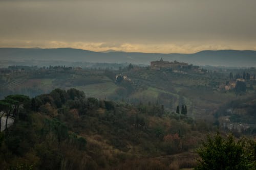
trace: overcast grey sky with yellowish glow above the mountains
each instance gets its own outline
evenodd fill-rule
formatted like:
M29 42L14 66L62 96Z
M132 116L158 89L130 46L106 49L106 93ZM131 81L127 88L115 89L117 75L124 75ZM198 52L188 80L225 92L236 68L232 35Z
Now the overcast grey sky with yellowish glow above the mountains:
M0 47L256 50L255 0L0 0Z

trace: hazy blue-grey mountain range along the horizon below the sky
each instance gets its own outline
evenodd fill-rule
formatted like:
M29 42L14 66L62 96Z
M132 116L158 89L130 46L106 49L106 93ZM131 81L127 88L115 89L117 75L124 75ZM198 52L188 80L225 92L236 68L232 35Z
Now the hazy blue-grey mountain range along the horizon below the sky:
M256 51L201 51L194 54L159 54L127 52L93 52L74 48L0 48L0 59L11 61L63 61L150 64L164 61L182 61L194 65L256 67Z

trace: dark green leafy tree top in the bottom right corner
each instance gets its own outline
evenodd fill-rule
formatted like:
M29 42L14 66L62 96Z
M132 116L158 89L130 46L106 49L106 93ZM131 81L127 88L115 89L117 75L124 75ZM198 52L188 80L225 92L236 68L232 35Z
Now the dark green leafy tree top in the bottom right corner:
M256 143L247 139L235 141L232 135L224 139L219 132L197 150L200 158L196 170L255 169Z

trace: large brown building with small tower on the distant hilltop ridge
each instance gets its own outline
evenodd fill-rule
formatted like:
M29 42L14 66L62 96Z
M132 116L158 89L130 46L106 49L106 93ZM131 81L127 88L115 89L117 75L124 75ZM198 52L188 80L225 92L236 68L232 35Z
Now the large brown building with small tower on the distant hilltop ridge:
M184 62L169 62L169 61L163 61L161 58L160 61L151 61L150 66L152 69L160 69L160 68L182 68L188 66L187 63Z

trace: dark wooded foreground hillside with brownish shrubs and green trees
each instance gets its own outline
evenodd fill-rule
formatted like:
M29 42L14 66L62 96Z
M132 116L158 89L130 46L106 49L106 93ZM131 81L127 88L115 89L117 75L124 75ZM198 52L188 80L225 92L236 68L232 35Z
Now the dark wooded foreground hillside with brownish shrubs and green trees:
M115 103L86 98L76 89L55 89L24 103L15 124L1 133L0 166L189 168L196 165L191 151L211 130L186 115L166 113L157 104Z

